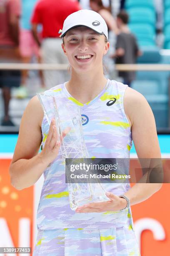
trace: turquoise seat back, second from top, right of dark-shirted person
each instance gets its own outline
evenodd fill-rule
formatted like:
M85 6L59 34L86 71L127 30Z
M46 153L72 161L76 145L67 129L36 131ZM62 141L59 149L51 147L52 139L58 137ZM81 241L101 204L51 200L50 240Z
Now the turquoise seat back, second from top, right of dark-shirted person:
M155 27L156 13L150 8L130 8L127 10L130 23L147 23Z

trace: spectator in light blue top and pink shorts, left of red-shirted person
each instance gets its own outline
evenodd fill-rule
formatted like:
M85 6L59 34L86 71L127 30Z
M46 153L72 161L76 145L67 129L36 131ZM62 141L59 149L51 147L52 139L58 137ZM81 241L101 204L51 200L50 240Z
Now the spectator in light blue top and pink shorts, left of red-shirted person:
M36 56L37 61L41 63L40 48L33 38L31 31L30 18L32 10L37 0L22 0L21 19L20 19L20 54L23 63L30 63L32 56ZM39 34L40 38L40 34ZM24 98L27 96L26 82L28 78L28 71L22 71L21 85L16 92L16 97ZM41 86L45 88L42 71L40 71Z

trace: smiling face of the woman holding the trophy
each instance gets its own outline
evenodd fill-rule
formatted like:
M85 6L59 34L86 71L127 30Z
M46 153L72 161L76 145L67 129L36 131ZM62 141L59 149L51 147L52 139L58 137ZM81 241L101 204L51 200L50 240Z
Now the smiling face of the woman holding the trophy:
M105 36L85 26L71 29L64 36L62 49L73 69L88 72L101 68L102 58L109 48Z

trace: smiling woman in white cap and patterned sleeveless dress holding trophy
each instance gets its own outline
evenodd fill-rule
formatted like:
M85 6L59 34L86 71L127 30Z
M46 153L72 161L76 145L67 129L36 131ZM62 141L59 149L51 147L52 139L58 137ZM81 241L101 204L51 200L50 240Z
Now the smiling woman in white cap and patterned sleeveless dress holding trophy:
M63 106L71 102L80 107L87 118L83 132L90 158L128 158L132 138L138 157L160 158L148 102L127 85L104 77L102 58L109 42L103 18L92 10L72 13L65 19L61 37L71 79L45 94L55 96L56 102L57 98L63 100ZM93 202L72 211L60 156L55 121L49 128L35 96L23 114L10 165L16 189L30 187L44 173L33 255L140 255L129 203L146 200L161 184L135 184L132 188L128 183L103 184L109 192L107 202Z

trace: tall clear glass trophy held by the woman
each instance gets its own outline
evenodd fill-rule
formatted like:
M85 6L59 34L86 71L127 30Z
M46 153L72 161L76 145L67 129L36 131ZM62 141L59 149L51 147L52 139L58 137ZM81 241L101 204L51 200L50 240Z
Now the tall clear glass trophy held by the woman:
M57 140L60 141L62 160L69 159L72 163L89 161L87 147L85 145L80 108L72 102L65 102L57 97L45 94L37 94L47 121L50 125L52 118L56 121ZM62 132L70 127L70 132L62 138ZM66 172L66 175L68 172ZM70 208L90 203L109 200L99 180L96 183L73 183L70 175L67 175L67 185L70 198Z

